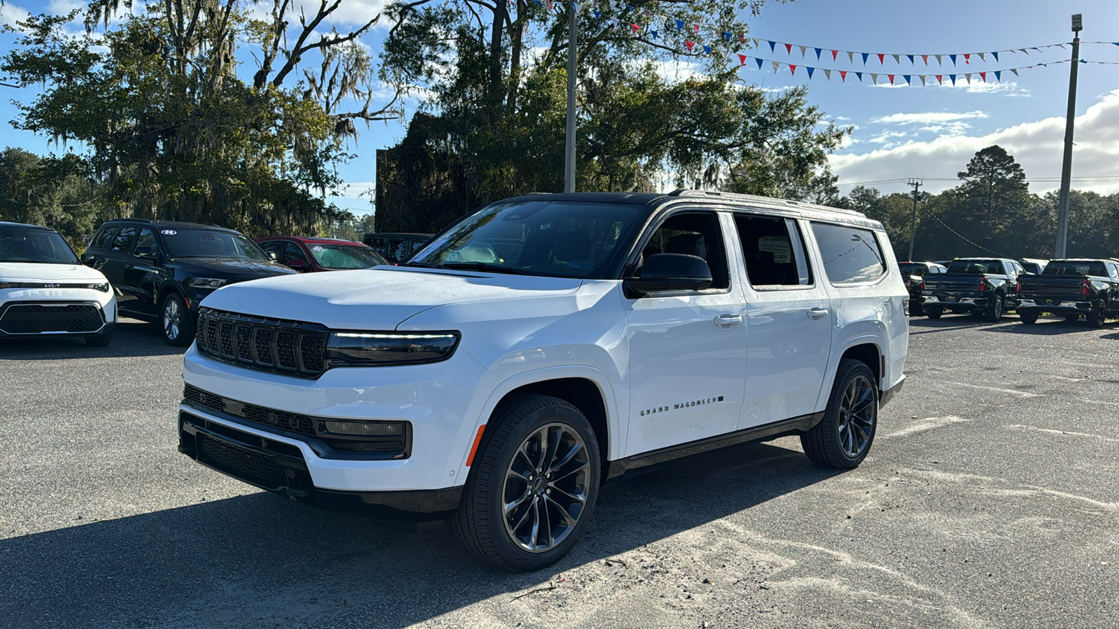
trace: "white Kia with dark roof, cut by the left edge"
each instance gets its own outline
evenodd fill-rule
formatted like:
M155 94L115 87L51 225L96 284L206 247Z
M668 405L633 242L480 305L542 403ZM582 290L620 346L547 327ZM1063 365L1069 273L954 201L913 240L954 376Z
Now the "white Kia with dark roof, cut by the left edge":
M105 347L115 327L109 280L83 266L58 232L0 222L0 339L79 336Z

